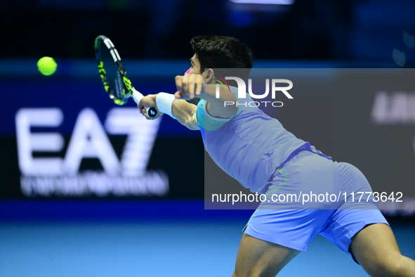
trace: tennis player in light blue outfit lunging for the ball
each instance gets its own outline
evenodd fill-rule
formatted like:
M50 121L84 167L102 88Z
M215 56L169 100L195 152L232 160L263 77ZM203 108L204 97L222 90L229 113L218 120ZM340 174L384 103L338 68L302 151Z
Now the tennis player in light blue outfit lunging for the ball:
M278 120L243 105L252 101L249 94L239 99L236 88L220 86L216 98L214 75L221 72L213 69L245 69L236 77L248 77L253 59L245 44L219 36L194 37L190 44L195 55L190 70L176 76L176 94L148 95L138 104L147 119L145 108L155 107L159 116L166 113L185 127L200 130L216 164L253 192L371 191L359 169L332 161ZM197 105L186 101L195 98L201 98ZM242 105L225 106L225 101ZM373 198L330 205L270 210L261 204L244 229L232 276L276 276L317 233L351 255L370 276L415 276L415 261L400 253Z

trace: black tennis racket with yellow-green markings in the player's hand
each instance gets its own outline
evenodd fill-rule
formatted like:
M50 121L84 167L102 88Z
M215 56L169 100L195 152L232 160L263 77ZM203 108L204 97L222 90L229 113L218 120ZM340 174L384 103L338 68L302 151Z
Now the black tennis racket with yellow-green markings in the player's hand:
M114 44L107 37L100 35L95 39L95 58L105 91L117 105L124 105L130 97L138 104L143 94L136 91L121 63L121 58ZM147 108L149 117L157 116L157 109Z

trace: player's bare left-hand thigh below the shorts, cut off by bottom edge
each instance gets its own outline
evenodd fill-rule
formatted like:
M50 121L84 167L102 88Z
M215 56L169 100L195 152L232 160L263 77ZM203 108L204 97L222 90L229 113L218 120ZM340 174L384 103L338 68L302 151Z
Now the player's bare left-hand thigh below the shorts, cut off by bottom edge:
M232 277L276 276L299 252L244 233Z

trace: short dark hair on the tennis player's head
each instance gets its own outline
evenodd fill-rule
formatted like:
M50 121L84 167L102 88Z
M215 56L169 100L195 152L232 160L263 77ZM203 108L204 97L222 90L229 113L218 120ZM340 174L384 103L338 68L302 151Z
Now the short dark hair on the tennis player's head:
M251 50L238 39L216 35L197 36L190 40L193 51L200 63L201 73L205 68L239 68L232 70L235 77L246 79L253 65ZM215 75L225 72L214 70Z

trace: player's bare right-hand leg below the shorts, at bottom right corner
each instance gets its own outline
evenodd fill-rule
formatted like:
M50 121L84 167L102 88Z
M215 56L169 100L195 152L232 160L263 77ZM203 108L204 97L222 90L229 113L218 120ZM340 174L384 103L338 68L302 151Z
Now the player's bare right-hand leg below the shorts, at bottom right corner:
M386 224L363 228L353 236L350 251L370 276L415 276L415 261L402 256Z

